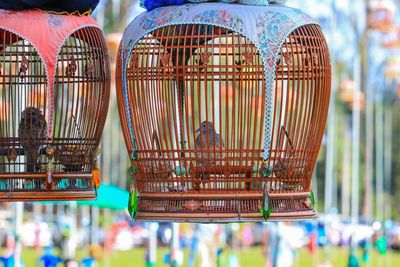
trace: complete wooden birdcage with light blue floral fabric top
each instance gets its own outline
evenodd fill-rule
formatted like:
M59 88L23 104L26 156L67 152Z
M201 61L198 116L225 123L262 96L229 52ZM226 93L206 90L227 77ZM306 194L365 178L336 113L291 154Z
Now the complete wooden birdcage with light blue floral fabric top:
M117 64L137 220L314 218L331 69L297 9L188 4L139 15Z

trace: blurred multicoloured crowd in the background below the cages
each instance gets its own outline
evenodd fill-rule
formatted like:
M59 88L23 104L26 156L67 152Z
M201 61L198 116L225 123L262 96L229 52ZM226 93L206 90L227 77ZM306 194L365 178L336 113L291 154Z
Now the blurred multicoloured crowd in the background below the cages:
M115 217L109 227L93 227L90 224L70 224L70 218L61 216L56 222L27 220L16 236L9 227L9 221L0 220L1 262L3 266L14 265L16 241L24 248L34 248L37 252L36 266L93 266L105 255L113 251L127 251L144 247L148 252L143 257L149 261L149 238L156 233L158 247L166 247L162 259L169 263L174 258L176 266L239 266L237 251L259 246L260 257L266 267L293 266L298 249L307 249L314 257L318 248L348 248L349 265L360 266L370 260L372 250L379 254L400 250L400 224L392 221L352 224L340 216L321 216L316 221L268 222L247 224L179 224L179 232L174 233L171 223L149 224L133 222L125 214ZM8 229L8 230L7 230ZM178 235L179 249L170 250L173 235ZM92 236L96 236L93 240ZM354 250L362 251L357 257ZM71 250L84 251L76 258ZM187 256L183 257L183 251ZM174 255L172 255L174 253ZM81 253L82 254L82 253ZM222 255L225 261L222 262ZM174 266L171 264L171 266ZM324 265L332 266L327 261Z

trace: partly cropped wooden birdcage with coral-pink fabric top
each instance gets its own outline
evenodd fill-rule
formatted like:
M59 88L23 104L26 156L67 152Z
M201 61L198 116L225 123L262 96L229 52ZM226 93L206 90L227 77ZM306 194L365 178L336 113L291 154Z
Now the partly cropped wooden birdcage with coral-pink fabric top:
M0 200L93 199L110 71L89 16L0 10Z

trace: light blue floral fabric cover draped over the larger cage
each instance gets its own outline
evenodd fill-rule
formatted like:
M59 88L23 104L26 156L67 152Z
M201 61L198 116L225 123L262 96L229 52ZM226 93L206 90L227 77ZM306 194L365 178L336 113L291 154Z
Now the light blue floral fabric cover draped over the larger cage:
M264 158L267 159L271 142L275 65L280 48L296 28L316 23L299 9L277 5L254 7L225 3L186 4L161 7L142 13L127 27L121 43L124 109L132 140L135 140L135 136L129 113L130 104L126 83L126 71L132 51L140 39L150 32L179 24L200 24L226 28L246 37L257 47L265 67Z

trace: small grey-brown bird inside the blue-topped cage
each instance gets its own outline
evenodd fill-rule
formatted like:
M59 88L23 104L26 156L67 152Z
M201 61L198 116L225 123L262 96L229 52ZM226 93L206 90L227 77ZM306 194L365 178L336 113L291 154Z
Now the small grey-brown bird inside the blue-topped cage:
M215 131L214 124L203 121L200 128L196 130L196 160L201 168L221 165L223 154L220 150L225 149L224 140Z

